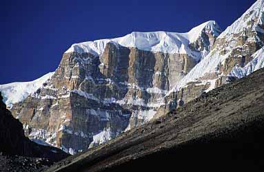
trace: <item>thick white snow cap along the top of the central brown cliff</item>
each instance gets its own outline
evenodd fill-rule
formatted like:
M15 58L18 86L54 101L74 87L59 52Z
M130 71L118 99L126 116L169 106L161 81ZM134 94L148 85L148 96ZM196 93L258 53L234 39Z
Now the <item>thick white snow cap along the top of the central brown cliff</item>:
M107 43L114 43L122 45L123 47L137 47L139 50L150 52L164 52L164 53L180 53L192 54L193 57L199 61L201 55L194 54L188 47L199 39L202 32L210 32L214 36L219 36L221 29L215 21L207 21L187 33L176 32L132 32L123 37L116 39L101 39L97 41L88 41L84 43L73 44L65 53L69 52L89 52L95 56L103 54L105 45Z

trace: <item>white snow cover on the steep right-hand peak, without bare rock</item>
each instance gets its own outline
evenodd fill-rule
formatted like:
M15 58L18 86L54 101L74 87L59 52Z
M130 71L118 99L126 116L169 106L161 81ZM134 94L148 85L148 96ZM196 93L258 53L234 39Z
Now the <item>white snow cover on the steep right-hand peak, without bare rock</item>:
M235 44L237 40L234 39L234 36L232 36L232 34L243 33L245 28L250 29L252 31L264 33L264 30L259 27L260 25L263 25L263 13L264 0L258 0L238 20L236 20L222 34L218 36L217 39L225 39L227 41L227 43L225 43L226 45L223 45L223 43L217 45L214 50L212 50L210 54L205 56L205 58L203 58L200 63L198 63L194 68L192 68L192 70L183 79L181 79L178 83L175 83L175 87L171 89L170 92L167 93L167 95L169 95L171 92L176 92L177 90L185 87L187 83L190 83L192 81L195 81L196 79L205 76L205 74L217 72L219 64L222 64L225 59L232 54L232 50L237 47L237 45ZM235 43L233 43L232 40L234 40ZM223 49L225 49L226 51L225 54L221 54L221 50ZM252 61L252 63L249 64L249 67L252 67L252 65L256 64L258 64L256 68L261 67L263 65L262 58L263 56L256 58L254 61ZM248 71L254 71L252 69L247 68L237 68L233 71L233 75L236 75L238 72L242 72L241 70L247 71L247 73Z

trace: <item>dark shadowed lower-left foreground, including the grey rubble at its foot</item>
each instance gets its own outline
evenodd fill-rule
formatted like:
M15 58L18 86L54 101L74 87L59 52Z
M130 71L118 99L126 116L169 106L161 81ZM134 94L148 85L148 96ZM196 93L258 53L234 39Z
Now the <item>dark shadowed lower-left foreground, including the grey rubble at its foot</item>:
M0 171L39 171L68 156L55 147L32 142L21 122L6 109L0 92Z

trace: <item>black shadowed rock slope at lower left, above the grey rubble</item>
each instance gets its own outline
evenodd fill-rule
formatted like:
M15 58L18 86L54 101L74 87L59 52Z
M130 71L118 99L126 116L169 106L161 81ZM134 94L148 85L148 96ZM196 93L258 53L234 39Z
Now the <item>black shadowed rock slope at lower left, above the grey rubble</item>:
M68 156L60 149L45 147L30 141L23 131L23 125L14 119L2 102L0 92L0 152L1 155L23 155L28 157L48 158L58 161Z

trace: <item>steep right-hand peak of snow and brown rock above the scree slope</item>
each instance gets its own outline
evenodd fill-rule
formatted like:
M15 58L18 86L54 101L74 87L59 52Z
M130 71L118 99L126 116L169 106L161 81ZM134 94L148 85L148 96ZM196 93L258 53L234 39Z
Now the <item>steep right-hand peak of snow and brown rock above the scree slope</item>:
M218 36L205 56L165 96L154 118L232 80L264 67L264 1L258 0Z

